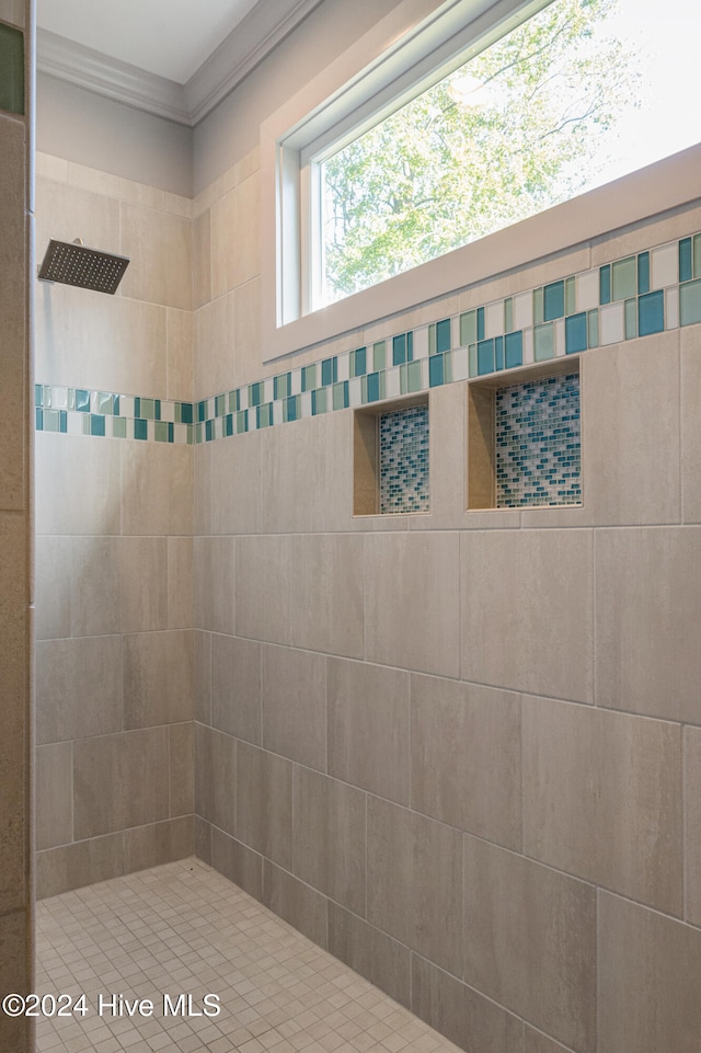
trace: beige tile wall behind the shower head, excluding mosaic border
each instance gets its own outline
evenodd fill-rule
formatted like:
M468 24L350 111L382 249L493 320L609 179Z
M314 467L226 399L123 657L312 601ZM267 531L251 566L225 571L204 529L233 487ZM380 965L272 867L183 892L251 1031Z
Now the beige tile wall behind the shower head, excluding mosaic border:
M80 236L131 257L114 297L37 285L37 380L192 399L191 203L37 171L37 253ZM42 432L35 493L43 896L193 851L193 450Z

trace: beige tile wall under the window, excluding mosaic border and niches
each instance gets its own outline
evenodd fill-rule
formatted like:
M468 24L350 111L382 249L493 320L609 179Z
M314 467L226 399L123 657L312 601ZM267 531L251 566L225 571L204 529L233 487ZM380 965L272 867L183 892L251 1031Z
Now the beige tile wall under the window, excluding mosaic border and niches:
M256 281L239 175L195 204L200 311ZM238 304L220 390L274 371ZM429 515L354 518L352 411L195 451L198 850L466 1050L698 1045L698 329L583 356L583 507L466 513L464 384L429 396Z

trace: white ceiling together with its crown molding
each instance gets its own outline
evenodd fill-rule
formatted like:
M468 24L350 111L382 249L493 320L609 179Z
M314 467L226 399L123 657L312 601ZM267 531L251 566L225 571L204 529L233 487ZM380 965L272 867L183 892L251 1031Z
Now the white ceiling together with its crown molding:
M194 125L322 0L37 0L37 69Z

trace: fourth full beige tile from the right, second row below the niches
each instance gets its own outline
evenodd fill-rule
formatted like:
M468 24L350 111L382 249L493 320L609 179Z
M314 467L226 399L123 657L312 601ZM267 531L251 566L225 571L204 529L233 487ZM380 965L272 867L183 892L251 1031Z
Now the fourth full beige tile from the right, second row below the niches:
M326 770L326 660L289 648L262 649L263 746Z

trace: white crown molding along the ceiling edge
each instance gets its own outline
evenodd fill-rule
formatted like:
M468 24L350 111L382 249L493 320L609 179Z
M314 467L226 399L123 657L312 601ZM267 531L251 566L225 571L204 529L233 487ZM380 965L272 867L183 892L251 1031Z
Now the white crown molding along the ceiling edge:
M36 67L114 102L193 127L322 2L256 3L184 85L41 27Z

